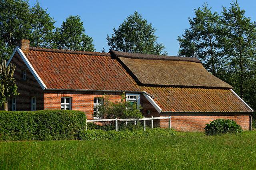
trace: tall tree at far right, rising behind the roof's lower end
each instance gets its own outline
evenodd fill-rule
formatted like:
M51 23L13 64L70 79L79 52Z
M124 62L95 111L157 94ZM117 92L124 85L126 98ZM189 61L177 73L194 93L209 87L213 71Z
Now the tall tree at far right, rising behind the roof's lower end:
M222 21L227 30L224 49L228 54L228 70L232 73L230 84L244 98L247 81L251 81L252 69L255 67L256 24L244 16L237 1L233 1L227 10L223 7Z

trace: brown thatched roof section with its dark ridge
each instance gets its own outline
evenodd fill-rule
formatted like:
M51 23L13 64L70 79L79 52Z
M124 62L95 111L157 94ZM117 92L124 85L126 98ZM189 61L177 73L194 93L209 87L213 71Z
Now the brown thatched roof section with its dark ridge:
M140 85L232 89L197 58L110 51Z

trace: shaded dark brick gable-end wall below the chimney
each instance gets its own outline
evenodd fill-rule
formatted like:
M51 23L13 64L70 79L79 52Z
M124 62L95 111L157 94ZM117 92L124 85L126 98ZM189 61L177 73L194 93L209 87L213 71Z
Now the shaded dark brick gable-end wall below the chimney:
M14 54L11 63L16 66L14 78L18 86L18 93L20 93L20 95L16 96L16 111L30 111L31 97L33 96L36 97L36 110L44 109L43 90L18 52ZM26 70L26 80L22 79L23 70ZM12 110L11 98L8 98L8 110L10 111Z

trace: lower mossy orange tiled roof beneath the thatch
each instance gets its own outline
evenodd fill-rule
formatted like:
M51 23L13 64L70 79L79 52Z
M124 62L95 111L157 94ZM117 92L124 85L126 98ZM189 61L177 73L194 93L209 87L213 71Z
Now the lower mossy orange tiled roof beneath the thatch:
M177 87L140 87L154 96L164 111L176 112L250 112L230 89Z

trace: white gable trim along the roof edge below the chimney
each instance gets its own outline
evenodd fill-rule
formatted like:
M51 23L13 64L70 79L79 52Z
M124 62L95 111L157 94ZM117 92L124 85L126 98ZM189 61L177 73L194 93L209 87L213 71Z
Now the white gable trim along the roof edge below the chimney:
M24 61L24 63L26 64L26 66L28 67L28 69L31 71L31 73L34 75L36 81L39 83L39 85L42 87L42 89L46 89L46 85L44 84L44 82L42 81L42 79L39 77L39 75L36 73L36 70L34 69L34 67L31 65L31 63L28 61L27 57L25 56L25 54L22 52L22 50L20 49L20 47L16 47L12 53L12 56L10 57L9 61L7 62L7 65L10 64L12 57L14 56L14 54L16 53L16 51L20 54L20 57L22 58L22 60Z

